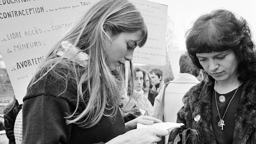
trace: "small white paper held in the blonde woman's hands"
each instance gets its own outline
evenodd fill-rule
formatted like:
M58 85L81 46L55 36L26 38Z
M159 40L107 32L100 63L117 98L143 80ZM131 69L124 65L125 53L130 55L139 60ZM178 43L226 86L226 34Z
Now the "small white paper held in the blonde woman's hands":
M173 122L154 123L151 125L137 123L137 129L140 129L140 128L170 129L170 128L180 127L183 125L184 125L183 123L173 123Z

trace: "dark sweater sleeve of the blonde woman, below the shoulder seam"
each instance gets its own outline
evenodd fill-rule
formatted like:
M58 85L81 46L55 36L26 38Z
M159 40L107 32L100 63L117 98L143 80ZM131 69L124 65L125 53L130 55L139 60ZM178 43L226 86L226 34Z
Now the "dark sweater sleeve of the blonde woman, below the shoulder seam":
M69 142L71 125L66 124L70 107L66 100L39 95L26 98L22 107L22 143L66 144Z

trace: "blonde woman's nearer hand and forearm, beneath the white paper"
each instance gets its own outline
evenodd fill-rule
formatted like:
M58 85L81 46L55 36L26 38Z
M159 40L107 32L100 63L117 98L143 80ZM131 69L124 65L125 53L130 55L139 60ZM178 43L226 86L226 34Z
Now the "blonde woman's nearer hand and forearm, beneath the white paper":
M110 140L106 144L156 144L161 136L168 135L166 129L141 128L130 130Z

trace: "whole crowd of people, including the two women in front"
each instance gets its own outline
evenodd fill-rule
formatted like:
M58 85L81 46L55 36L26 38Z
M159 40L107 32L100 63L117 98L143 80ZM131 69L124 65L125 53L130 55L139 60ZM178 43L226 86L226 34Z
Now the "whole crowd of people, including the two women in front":
M244 18L225 9L199 16L169 82L159 68L133 68L133 51L147 37L131 2L97 1L38 66L22 109L17 101L6 106L10 144L256 143L256 52ZM184 125L137 129L161 122Z

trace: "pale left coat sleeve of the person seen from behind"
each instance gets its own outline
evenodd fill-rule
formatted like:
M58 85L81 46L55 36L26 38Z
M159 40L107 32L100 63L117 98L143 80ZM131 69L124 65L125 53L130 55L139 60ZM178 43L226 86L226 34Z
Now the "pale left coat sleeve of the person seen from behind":
M161 111L161 102L162 102L162 93L163 93L164 89L160 90L160 93L158 94L158 96L155 97L155 102L154 102L154 106L153 106L153 111L151 114L151 117L160 119L161 121L163 121L162 116L164 111Z

